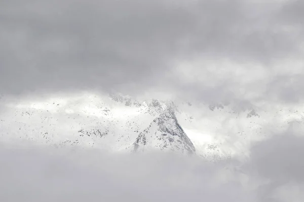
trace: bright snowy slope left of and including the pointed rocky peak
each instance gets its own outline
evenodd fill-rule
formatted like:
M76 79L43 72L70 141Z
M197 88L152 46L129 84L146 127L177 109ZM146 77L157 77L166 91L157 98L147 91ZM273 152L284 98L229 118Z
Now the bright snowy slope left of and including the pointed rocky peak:
M56 147L195 153L168 106L156 99L139 103L121 95L94 94L8 102L6 112L1 113L0 137L2 141L26 139Z

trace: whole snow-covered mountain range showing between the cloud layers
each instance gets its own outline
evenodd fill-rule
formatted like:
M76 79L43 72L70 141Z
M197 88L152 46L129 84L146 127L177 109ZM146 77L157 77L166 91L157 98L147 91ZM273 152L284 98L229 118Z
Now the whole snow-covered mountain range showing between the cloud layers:
M22 101L2 96L0 141L226 158L248 155L253 142L271 133L291 126L301 129L303 115L294 106L240 108L113 94L57 94Z

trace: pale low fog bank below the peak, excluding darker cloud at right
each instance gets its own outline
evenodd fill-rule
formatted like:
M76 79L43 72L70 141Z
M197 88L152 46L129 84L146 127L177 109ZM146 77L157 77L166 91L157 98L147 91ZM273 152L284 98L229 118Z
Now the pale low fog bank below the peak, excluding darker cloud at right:
M254 201L219 166L173 154L9 148L0 151L3 201Z

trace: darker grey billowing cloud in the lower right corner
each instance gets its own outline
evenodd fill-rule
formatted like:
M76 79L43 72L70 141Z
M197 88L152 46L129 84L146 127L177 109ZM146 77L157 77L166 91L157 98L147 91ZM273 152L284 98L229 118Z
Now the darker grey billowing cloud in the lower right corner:
M256 143L249 163L243 169L260 179L257 193L260 201L300 201L304 185L302 145L304 138L291 126L285 132Z

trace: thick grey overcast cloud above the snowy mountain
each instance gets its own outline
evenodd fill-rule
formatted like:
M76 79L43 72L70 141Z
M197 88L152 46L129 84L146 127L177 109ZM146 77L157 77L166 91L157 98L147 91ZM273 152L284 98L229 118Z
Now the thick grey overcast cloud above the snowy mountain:
M1 1L0 92L299 102L303 1Z

